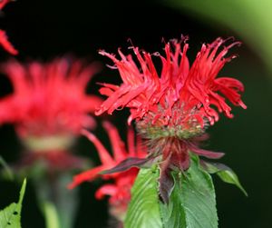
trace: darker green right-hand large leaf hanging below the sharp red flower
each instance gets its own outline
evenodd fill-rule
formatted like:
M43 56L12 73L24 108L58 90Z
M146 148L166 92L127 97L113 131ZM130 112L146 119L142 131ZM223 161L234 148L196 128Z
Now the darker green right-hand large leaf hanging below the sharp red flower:
M209 173L199 168L199 159L192 156L189 170L173 173L175 187L170 203L160 203L166 228L217 228L215 191Z

